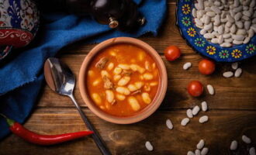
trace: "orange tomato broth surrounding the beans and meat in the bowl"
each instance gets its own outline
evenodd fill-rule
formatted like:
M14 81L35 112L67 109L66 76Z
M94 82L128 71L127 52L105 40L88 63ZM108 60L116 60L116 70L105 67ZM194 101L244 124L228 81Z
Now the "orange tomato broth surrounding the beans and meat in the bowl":
M119 101L118 99L116 99L116 94L119 94L116 92L116 90L114 89L114 95L115 95L115 99L116 102L111 105L111 103L106 101L106 88L104 88L104 81L100 81L98 85L93 86L92 83L96 80L96 79L102 79L101 77L101 70L97 67L95 67L95 64L97 62L99 62L99 60L102 57L108 57L109 61L106 63L106 66L103 68L103 70L106 70L109 72L110 76L110 80L112 81L112 83L115 85L115 88L117 86L117 82L118 81L114 81L112 79L112 77L115 75L113 74L113 70L115 67L117 67L118 64L137 64L140 67L144 67L145 68L145 61L147 60L150 64L150 67L152 69L152 71L147 71L145 70L144 73L150 73L150 74L154 74L154 78L152 80L141 80L141 74L139 72L133 72L130 75L130 82L128 84L126 84L123 87L126 87L129 84L133 84L134 82L137 81L143 81L144 85L146 83L150 84L150 82L155 82L157 81L157 85L151 87L150 86L150 91L144 91L144 87L141 88L142 92L147 92L150 95L151 98L151 102L154 100L155 95L157 94L157 88L159 85L159 74L158 74L158 68L157 65L155 64L155 61L152 59L152 57L150 57L150 55L143 50L140 47L137 47L135 45L132 44L127 44L127 43L120 43L120 44L116 44L116 45L112 45L109 47L106 47L105 49L103 49L101 52L99 52L99 54L97 54L93 60L91 61L89 67L88 67L88 71L91 72L91 74L87 74L87 89L88 89L88 94L90 95L90 97L92 98L92 94L93 93L98 93L102 99L102 103L101 104L96 104L99 108L102 109L102 111L109 113L110 115L116 115L116 116L129 116L129 115L133 115L136 112L133 110L133 108L131 108L130 104L127 101L127 98L129 96L134 96L135 98L137 98L137 101L140 104L140 109L137 112L140 112L141 110L143 110L144 108L147 107L147 104L144 103L142 97L141 97L141 93L137 94L137 95L126 95L126 99L124 101ZM108 64L109 63L113 63L114 67L112 68L111 71L109 71L107 69ZM153 69L153 64L155 64L155 69ZM123 77L123 76L122 76ZM93 100L92 100L93 101ZM150 103L151 104L151 103Z

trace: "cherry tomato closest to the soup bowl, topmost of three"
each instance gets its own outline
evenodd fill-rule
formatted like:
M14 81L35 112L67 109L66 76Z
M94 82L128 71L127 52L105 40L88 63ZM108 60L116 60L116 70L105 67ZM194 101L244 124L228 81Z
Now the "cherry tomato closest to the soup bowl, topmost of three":
M179 48L176 46L167 47L164 50L164 56L167 60L170 60L170 61L176 60L178 59L178 57L181 56L181 50L179 50Z

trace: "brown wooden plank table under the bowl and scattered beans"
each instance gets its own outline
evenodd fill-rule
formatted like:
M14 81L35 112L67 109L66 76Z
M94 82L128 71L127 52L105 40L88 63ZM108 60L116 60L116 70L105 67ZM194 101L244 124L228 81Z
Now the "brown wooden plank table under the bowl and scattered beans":
M247 154L249 146L256 146L256 57L240 64L243 74L239 78L222 76L224 71L230 70L230 64L217 64L216 72L210 76L199 74L198 62L202 57L180 36L175 26L175 5L174 0L168 2L167 20L159 36L140 37L161 54L168 70L168 91L157 112L136 124L112 124L99 119L86 107L78 86L74 95L113 154L186 154L189 150L195 150L196 143L201 139L206 141L209 154ZM175 62L168 62L163 57L164 48L171 44L182 50L182 57ZM65 47L59 55L78 77L82 61L94 46L81 41ZM185 62L192 62L189 71L182 69ZM204 85L213 84L216 95L209 95L205 91L202 97L192 98L186 91L186 85L192 80L202 81ZM200 105L202 101L208 102L209 111L199 112L187 126L181 126L186 109ZM209 115L209 122L200 124L199 117L202 115ZM171 119L174 129L167 128L166 119ZM71 100L55 94L47 86L43 88L38 104L25 126L42 134L86 129ZM243 134L251 137L251 145L241 141ZM149 152L145 148L147 140L153 144L154 151ZM232 140L239 143L239 151L235 153L229 150ZM56 146L36 146L11 135L0 142L0 154L89 155L100 152L91 137Z

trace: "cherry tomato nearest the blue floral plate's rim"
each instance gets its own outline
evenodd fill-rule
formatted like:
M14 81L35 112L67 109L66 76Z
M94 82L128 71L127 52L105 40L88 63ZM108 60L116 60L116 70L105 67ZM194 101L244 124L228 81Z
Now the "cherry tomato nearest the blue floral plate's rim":
M215 63L212 60L203 59L199 62L199 71L201 74L213 74L213 71L215 71Z

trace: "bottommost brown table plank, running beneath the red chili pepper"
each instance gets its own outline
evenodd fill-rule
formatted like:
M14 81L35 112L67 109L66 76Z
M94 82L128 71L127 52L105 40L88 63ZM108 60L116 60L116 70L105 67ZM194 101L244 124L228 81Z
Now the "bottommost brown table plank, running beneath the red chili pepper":
M206 140L209 154L232 154L229 147L232 140L239 142L240 152L246 154L247 145L241 141L246 134L254 145L256 141L256 113L245 111L200 112L187 126L180 122L185 110L158 111L148 119L131 125L117 125L105 122L85 110L89 119L99 130L113 154L186 154L195 150L199 140ZM209 115L209 122L200 124L199 116ZM171 119L174 129L165 126ZM74 108L37 108L25 126L37 133L57 134L86 129ZM149 140L154 151L148 152L144 143ZM0 154L99 154L90 137L63 143L57 146L35 146L17 136L9 136L0 142Z

